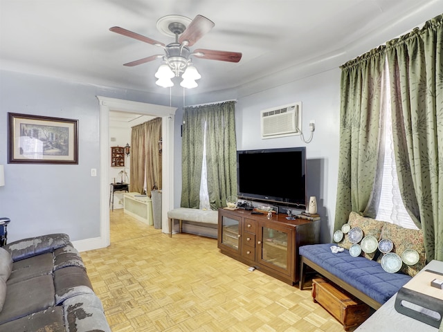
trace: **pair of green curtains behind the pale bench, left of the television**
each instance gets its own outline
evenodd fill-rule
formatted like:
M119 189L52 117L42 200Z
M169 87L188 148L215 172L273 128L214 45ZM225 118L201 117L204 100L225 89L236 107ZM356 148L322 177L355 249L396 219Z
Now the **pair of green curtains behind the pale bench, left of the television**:
M210 207L226 206L237 194L235 102L186 107L182 131L181 207L199 208L206 130L206 167Z

